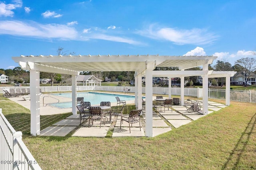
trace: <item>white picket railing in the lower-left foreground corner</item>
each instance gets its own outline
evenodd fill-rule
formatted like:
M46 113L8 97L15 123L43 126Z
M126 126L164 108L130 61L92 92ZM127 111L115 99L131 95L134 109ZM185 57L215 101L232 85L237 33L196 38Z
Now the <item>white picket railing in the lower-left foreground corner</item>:
M0 170L41 170L22 141L22 132L15 131L0 109Z

